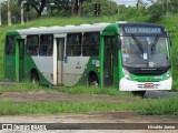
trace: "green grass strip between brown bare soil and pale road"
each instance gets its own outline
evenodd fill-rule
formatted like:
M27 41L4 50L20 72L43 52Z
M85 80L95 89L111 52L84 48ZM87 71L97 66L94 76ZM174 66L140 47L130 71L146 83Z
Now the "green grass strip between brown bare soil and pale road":
M0 102L0 115L14 114L55 114L72 112L107 112L136 111L140 104L125 102L90 102L90 103L14 103Z

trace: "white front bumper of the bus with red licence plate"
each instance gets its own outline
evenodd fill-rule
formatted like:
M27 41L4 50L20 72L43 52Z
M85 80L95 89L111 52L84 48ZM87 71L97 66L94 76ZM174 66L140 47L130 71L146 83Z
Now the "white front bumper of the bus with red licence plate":
M169 78L160 82L137 82L130 81L126 78L120 80L119 90L120 91L161 91L161 90L171 90L172 78Z

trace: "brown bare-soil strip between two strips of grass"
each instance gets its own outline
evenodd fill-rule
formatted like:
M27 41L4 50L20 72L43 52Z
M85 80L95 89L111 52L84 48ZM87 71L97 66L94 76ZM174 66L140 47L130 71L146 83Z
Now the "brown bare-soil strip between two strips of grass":
M69 94L55 91L32 91L32 92L1 92L0 101L14 101L14 102L137 102L131 98L121 98L112 95L100 94ZM139 101L139 100L138 100Z

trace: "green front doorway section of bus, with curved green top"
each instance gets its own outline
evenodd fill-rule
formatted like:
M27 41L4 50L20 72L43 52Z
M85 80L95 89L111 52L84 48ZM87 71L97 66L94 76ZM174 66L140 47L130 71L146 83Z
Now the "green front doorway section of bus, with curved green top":
M117 23L107 25L101 33L100 44L100 85L119 88L119 49L117 40L119 40L119 27ZM109 61L109 62L108 62ZM110 69L107 69L109 66Z

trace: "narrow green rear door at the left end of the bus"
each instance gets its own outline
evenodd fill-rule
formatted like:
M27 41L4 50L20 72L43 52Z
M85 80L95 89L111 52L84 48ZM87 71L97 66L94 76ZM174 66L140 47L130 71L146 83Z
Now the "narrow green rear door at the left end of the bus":
M17 49L17 80L23 81L24 80L24 39L18 39L18 49Z

